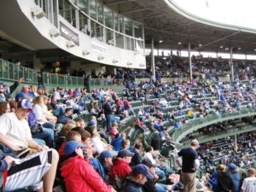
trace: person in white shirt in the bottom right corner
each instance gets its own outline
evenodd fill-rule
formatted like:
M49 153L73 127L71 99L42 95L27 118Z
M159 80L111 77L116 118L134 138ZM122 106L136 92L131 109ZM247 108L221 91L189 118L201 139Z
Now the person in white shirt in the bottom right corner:
M247 170L248 177L244 179L241 185L241 192L254 192L256 191L256 177L255 169L249 168Z

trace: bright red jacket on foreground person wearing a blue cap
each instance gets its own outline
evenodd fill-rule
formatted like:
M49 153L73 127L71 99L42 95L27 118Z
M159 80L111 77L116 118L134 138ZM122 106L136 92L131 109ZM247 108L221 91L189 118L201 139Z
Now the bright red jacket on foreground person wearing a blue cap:
M112 187L80 156L71 157L61 165L61 176L68 192L111 192Z

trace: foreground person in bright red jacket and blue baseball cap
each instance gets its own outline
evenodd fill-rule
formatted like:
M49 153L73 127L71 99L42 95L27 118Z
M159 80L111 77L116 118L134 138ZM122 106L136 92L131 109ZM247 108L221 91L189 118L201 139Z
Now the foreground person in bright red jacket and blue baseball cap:
M68 192L114 192L103 182L102 177L93 169L88 160L84 160L83 144L75 141L66 143L64 152L67 160L61 165L61 176Z

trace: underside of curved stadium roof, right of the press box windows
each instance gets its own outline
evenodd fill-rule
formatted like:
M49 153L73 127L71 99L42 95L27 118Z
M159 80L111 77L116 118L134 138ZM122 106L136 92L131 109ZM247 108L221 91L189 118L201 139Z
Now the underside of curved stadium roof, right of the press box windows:
M165 0L102 0L121 15L144 24L146 48L154 38L156 49L191 49L199 51L255 54L256 34L236 27L209 26L181 15ZM162 40L162 43L159 43ZM181 43L181 44L180 44Z

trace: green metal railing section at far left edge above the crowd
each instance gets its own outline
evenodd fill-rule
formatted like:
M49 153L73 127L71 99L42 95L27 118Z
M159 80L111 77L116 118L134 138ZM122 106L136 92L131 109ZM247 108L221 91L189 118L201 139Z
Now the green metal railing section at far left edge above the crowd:
M25 83L38 84L38 73L34 69L0 59L0 79L19 81L22 77Z

